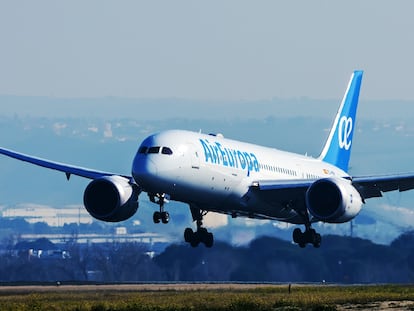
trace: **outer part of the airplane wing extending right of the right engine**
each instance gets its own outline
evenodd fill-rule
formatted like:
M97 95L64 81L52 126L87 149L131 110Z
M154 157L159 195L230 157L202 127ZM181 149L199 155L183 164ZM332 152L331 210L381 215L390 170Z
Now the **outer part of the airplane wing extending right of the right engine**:
M354 177L352 184L369 199L381 197L383 192L414 189L414 174Z

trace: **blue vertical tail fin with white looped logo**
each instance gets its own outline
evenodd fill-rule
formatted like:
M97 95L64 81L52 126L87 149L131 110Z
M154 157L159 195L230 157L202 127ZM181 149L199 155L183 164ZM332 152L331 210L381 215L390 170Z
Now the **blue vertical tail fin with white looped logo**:
M348 171L363 71L354 71L319 159Z

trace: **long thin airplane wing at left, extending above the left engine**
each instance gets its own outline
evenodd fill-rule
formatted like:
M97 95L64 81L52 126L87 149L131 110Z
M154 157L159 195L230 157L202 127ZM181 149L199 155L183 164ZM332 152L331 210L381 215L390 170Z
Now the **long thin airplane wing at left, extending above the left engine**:
M125 177L127 179L131 179L131 176L127 176L127 175L119 175L119 174L114 174L110 172L97 171L97 170L84 168L80 166L64 164L60 162L49 161L46 159L30 156L24 153L16 152L16 151L5 149L5 148L0 148L0 154L3 154L5 156L8 156L8 157L20 160L20 161L29 162L34 165L38 165L38 166L42 166L42 167L49 168L52 170L63 172L66 174L67 179L70 178L70 175L81 176L81 177L85 177L89 179L97 179L103 176L118 175L118 176Z

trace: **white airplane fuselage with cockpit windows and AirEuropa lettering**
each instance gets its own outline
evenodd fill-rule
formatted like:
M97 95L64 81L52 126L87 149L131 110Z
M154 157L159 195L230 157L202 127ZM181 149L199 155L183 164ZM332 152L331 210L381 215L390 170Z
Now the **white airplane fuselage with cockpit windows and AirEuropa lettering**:
M296 222L291 209L275 208L249 192L255 181L347 177L318 159L201 133L170 130L146 138L132 176L149 194L219 211Z

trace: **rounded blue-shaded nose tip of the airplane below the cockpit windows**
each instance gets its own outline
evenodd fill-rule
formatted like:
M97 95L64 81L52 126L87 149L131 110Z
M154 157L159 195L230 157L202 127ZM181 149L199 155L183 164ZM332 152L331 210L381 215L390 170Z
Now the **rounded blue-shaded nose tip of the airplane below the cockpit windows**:
M148 187L158 175L157 166L145 154L137 154L132 165L132 176L138 185Z

